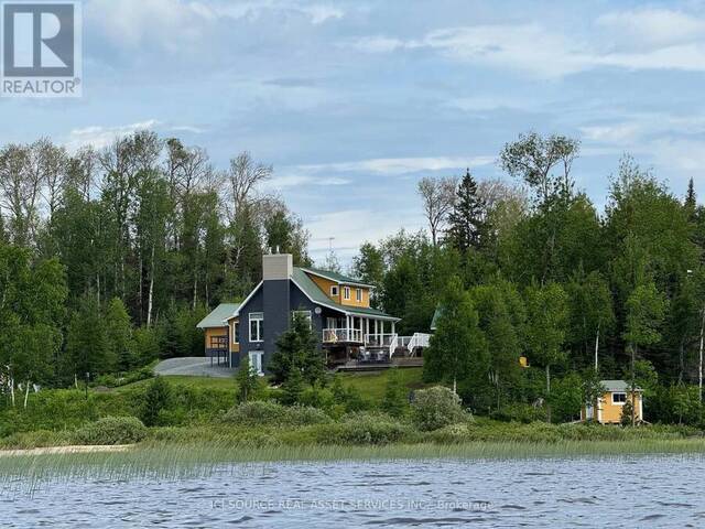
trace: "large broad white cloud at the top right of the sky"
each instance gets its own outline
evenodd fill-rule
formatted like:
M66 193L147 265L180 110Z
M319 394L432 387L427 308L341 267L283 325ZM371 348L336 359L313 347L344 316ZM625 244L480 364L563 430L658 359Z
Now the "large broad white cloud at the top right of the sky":
M558 78L598 67L705 71L705 18L680 11L606 13L585 36L539 23L479 24L402 41L388 35L344 43L367 53L433 50L452 61Z

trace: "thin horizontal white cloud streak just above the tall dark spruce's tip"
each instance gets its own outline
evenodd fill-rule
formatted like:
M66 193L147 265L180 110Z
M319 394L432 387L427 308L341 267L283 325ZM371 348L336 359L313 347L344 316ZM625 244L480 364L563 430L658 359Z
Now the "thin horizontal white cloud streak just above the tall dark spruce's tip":
M399 175L421 171L444 171L452 169L476 168L479 165L488 165L494 161L495 156L376 158L371 160L359 160L356 162L301 165L300 168L307 171L349 171Z

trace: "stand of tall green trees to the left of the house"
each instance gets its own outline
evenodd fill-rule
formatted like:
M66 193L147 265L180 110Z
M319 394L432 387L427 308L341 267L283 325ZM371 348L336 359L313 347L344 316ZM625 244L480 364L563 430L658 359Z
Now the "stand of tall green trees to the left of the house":
M301 219L264 188L272 172L248 152L217 169L150 131L75 153L0 148L3 387L202 354L195 324L257 284L264 251L310 263Z

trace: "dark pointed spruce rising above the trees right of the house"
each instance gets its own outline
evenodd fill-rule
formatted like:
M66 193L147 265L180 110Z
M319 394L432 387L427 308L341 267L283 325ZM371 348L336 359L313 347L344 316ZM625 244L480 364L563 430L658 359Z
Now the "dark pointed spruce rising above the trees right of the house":
M477 182L468 169L456 191L455 204L448 216L448 240L465 253L478 249L486 235L485 204L477 193Z

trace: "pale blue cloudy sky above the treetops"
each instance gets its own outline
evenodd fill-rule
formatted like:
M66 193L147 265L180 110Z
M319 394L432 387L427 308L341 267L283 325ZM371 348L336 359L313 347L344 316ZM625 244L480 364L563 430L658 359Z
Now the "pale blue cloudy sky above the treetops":
M632 154L705 184L705 2L85 0L84 95L0 98L0 142L75 150L150 128L216 166L247 150L312 256L424 226L423 176L502 175L530 130L582 141L604 207ZM329 238L334 238L330 242Z

